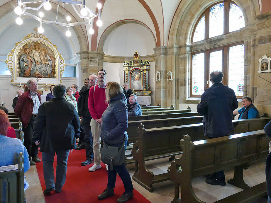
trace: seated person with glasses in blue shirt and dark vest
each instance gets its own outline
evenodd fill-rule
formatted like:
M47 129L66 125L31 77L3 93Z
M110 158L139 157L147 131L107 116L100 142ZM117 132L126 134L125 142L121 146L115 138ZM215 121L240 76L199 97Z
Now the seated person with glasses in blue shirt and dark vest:
M260 118L258 109L252 104L250 97L242 98L243 107L239 110L233 112L233 115L240 114L239 119L248 119L248 118Z

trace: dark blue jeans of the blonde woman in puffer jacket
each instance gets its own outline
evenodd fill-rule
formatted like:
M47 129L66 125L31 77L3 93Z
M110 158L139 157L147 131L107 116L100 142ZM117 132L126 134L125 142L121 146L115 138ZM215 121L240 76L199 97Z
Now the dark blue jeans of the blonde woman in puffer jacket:
M123 142L114 144L111 146L121 146L122 144ZM125 163L121 164L120 166L113 166L113 170L108 169L107 189L113 189L116 187L115 184L116 184L117 173L123 182L125 192L126 193L132 192L134 188L133 188L130 174L128 170L126 169Z

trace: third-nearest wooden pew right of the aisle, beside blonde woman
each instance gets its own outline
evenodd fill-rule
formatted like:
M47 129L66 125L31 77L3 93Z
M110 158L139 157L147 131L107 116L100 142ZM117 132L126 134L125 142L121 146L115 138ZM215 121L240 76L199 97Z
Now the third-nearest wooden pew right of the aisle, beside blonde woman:
M202 123L202 119L203 116L190 116L179 118L128 121L128 128L126 130L129 137L128 144L138 141L137 129L140 123L142 123L146 128L157 128Z

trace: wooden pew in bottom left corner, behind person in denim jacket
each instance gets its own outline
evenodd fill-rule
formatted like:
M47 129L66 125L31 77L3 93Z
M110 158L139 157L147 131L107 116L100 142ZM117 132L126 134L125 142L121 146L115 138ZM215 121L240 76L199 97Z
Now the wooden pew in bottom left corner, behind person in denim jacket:
M7 168L13 167L14 170L7 170ZM6 193L6 202L26 202L23 178L23 153L20 153L18 164L0 167L0 202L3 202L4 191Z

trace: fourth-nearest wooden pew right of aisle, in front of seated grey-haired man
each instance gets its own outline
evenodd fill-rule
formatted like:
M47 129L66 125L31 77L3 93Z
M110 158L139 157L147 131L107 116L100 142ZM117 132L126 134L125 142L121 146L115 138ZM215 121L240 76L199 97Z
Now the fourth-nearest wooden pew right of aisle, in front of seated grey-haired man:
M186 113L169 113L169 114L157 114L157 115L128 116L128 121L179 118L179 117L200 116L200 115L201 115L200 113L191 112L191 110L190 110L189 112L186 112Z

